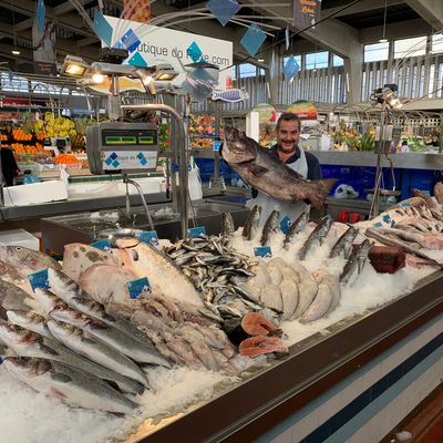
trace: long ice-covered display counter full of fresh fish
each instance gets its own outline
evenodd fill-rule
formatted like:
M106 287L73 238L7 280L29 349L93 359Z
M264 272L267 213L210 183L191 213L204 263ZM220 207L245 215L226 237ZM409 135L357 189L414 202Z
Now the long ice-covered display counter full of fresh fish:
M6 439L381 441L441 383L433 205L348 226L220 204L186 239L60 231L62 264L0 245Z

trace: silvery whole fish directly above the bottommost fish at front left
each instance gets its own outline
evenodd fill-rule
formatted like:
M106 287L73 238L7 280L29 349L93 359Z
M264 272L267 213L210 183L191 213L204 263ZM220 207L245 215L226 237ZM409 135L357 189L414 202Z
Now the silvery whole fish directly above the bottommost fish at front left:
M144 390L138 382L79 356L55 340L50 340L21 327L1 323L0 340L20 357L55 360L74 368L81 368L100 379L114 382L123 392L140 394Z

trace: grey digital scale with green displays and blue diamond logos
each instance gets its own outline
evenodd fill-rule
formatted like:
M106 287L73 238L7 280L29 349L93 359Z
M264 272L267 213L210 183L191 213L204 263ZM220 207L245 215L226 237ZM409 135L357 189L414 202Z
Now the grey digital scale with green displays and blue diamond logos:
M153 123L100 123L86 126L91 173L154 172L158 157L158 130Z

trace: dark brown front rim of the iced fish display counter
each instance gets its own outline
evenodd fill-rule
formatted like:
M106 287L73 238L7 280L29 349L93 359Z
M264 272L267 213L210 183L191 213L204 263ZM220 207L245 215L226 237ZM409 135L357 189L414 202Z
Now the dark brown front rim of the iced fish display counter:
M311 337L290 356L176 422L138 440L163 443L250 442L442 312L443 272L413 292ZM356 297L358 291L356 290Z

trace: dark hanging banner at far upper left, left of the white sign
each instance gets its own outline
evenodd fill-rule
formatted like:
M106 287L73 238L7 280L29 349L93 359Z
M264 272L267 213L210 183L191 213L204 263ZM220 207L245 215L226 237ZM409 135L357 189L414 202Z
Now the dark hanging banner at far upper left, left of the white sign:
M32 24L32 45L35 74L56 74L55 25L45 20L43 33L40 34L39 24Z

